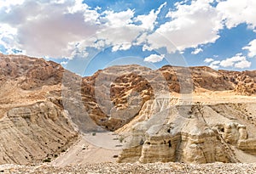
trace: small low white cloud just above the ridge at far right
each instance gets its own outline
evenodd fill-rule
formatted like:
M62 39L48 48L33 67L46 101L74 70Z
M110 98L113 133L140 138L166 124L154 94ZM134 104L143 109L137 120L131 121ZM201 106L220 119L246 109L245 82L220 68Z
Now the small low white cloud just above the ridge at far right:
M219 63L222 67L235 67L235 68L249 68L251 66L251 62L247 61L246 57L241 55L241 53L236 54L236 56L224 59Z

